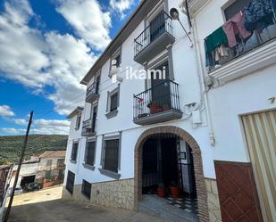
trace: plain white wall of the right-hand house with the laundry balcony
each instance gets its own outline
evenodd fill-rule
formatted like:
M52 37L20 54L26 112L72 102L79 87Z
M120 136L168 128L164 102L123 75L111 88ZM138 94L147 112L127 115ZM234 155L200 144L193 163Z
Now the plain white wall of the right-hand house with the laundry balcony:
M205 76L204 39L224 23L222 6L227 3L226 0L208 1L194 21L201 55L199 62ZM276 104L268 100L276 96L275 69L276 64L256 70L208 92L216 141L213 148L215 160L250 161L239 115L276 108Z

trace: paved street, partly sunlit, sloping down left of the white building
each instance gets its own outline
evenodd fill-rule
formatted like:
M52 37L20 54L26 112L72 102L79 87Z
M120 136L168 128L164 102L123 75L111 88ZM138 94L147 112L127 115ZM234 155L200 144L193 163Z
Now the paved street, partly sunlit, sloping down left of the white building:
M17 195L13 201L11 222L164 222L155 216L129 211L109 209L95 205L81 205L64 201L62 187Z

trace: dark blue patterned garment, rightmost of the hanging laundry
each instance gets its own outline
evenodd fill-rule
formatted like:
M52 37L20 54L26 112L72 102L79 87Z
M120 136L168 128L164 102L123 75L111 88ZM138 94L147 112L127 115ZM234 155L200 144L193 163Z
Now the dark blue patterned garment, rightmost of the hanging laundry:
M252 0L244 8L245 28L248 31L273 24L272 0Z

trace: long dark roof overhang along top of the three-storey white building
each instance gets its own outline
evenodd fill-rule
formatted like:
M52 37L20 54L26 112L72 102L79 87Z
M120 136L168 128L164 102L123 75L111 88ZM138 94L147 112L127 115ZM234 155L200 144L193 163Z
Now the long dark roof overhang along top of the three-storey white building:
M107 45L105 51L101 56L96 60L92 68L88 71L86 76L82 78L80 84L87 85L89 80L102 68L107 60L113 55L113 53L121 46L121 44L130 37L130 34L134 29L138 27L141 21L143 21L148 14L151 12L155 5L158 4L161 0L142 0L138 5L138 8L132 12L130 19L126 21L125 25L120 29L116 37L113 38L113 41Z

